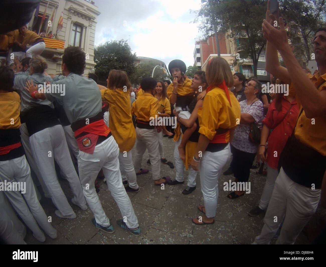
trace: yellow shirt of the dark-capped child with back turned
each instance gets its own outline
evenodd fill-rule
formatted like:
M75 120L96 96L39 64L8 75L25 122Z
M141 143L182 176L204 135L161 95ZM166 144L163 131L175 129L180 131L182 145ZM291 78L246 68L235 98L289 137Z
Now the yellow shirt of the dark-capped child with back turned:
M139 121L149 122L158 112L158 100L152 94L144 93L132 103L131 114Z

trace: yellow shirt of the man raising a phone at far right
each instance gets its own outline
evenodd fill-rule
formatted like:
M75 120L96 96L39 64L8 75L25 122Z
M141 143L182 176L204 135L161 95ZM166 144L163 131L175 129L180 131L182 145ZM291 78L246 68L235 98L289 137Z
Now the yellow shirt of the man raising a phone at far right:
M326 73L319 76L316 73L314 76L307 74L310 81L314 83L315 87L319 86L318 91L326 89ZM322 82L322 85L320 85ZM289 94L293 94L295 88L291 83L289 88ZM298 103L299 114L302 109L302 105L298 96L295 97ZM314 124L312 124L314 121ZM299 117L299 120L295 126L294 136L303 144L317 150L321 155L326 156L326 115L316 117L313 119L308 119L304 111Z

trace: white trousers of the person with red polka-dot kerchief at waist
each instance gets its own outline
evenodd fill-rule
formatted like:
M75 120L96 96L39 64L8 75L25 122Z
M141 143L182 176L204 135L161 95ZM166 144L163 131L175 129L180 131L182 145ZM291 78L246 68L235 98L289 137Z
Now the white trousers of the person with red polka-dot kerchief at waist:
M104 227L109 226L109 218L105 215L94 186L97 174L102 169L108 188L118 204L121 215L126 216L126 225L129 228L137 228L139 226L137 217L122 184L118 156L119 148L113 136L96 145L93 154L80 151L78 169L82 189L86 201L95 215L96 222Z

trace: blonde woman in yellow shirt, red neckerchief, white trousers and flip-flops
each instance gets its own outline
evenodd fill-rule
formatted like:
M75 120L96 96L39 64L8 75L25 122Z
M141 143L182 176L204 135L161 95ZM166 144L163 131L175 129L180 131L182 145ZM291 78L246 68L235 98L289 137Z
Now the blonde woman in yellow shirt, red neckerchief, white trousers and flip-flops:
M200 171L204 196L204 206L198 206L198 209L205 215L192 219L198 225L214 224L218 177L230 157L229 141L240 118L239 102L228 89L233 85L228 62L221 57L211 59L206 79L210 86L206 89L202 108L198 109L200 137L191 161L191 167Z

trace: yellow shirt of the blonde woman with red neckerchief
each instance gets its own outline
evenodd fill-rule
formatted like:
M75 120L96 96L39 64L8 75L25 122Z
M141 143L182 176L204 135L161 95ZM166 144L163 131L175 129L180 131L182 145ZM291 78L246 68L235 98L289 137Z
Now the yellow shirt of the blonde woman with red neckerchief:
M203 105L198 109L199 133L213 140L216 129L231 129L240 121L240 104L229 90L230 101L223 89L214 87L205 96Z

